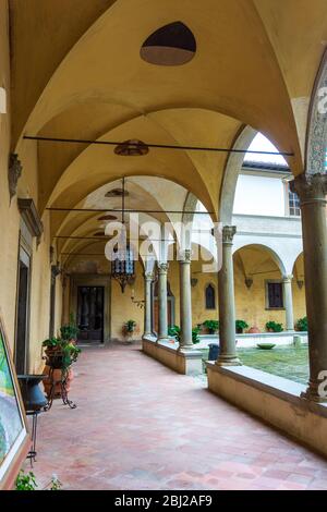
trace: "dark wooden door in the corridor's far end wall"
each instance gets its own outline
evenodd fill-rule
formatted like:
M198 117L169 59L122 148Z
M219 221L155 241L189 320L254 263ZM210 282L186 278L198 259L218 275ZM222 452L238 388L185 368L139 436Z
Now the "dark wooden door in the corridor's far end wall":
M104 342L105 287L77 287L78 341Z

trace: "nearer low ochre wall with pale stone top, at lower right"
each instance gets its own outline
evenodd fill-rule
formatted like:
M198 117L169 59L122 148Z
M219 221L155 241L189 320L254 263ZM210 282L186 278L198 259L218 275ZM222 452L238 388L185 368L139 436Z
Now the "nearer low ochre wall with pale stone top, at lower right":
M327 456L327 403L300 398L305 386L249 366L207 363L208 388Z

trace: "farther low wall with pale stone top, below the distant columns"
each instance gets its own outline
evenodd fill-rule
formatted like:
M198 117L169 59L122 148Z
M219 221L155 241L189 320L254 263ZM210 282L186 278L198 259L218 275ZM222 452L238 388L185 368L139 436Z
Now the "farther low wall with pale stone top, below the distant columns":
M178 374L198 375L203 373L203 354L199 351L179 350L178 343L157 342L153 337L144 337L142 339L142 350L145 354L154 357Z

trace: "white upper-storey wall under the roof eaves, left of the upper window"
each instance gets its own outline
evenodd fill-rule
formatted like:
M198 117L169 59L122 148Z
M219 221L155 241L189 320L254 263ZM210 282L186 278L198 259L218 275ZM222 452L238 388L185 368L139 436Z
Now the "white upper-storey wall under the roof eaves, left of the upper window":
M241 174L233 214L284 217L284 185L281 179Z

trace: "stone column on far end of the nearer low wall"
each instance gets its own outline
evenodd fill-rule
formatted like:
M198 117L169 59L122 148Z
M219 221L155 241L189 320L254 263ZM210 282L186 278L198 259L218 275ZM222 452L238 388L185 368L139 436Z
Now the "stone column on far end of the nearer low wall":
M216 362L219 366L238 366L241 362L235 344L235 301L232 244L237 232L234 225L222 228L222 265L218 273L219 292L219 344Z

